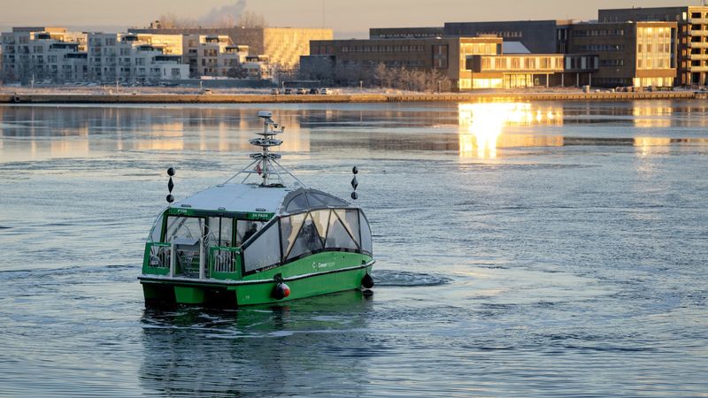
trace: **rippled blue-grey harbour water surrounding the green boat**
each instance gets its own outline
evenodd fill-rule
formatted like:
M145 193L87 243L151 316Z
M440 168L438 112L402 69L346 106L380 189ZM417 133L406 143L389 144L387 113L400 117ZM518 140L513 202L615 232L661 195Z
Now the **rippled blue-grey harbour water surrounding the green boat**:
M145 310L165 203L282 164L372 297ZM708 396L708 103L0 105L0 396Z

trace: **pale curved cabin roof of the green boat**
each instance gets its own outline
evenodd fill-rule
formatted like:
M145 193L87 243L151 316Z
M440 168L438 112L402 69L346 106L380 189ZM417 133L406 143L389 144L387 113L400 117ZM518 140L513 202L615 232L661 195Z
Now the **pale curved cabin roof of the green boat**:
M317 189L261 187L258 184L217 185L170 205L172 209L274 214L342 207L352 206Z

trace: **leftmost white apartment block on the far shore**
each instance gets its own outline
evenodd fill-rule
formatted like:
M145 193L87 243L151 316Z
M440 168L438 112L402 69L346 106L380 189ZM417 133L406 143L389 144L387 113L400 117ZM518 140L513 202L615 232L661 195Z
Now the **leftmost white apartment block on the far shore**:
M86 34L63 27L13 27L0 34L2 80L81 81L89 72Z

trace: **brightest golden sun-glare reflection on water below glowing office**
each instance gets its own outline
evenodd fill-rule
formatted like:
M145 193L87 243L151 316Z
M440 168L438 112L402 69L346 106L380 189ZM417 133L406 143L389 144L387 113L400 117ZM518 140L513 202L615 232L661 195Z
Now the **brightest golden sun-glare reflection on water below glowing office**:
M562 146L558 135L504 134L509 126L562 126L563 108L532 103L460 103L459 156L496 158L497 148Z

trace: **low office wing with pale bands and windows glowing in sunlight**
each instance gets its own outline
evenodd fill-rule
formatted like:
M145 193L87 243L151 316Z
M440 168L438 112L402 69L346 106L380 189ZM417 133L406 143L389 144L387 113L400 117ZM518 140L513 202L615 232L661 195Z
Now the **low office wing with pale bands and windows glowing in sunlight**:
M598 65L596 55L500 54L467 57L473 89L591 85Z

